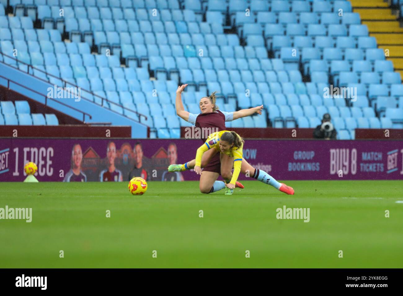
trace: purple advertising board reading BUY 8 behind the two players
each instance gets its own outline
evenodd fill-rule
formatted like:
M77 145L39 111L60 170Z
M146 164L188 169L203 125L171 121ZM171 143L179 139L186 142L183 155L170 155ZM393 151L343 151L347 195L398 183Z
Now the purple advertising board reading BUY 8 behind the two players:
M108 158L110 141L114 142L116 153ZM166 172L166 168L170 163L193 159L201 140L141 139L142 153L136 143L135 139L3 138L0 181L24 180L23 166L27 161L37 164L39 181L63 181L74 163L87 181L100 180L100 173L110 164L114 164L124 181L129 180L129 174L142 175L147 180L198 180L192 171L176 174ZM78 156L73 156L73 146L81 151ZM403 141L395 140L246 139L243 150L250 164L278 180L398 180L403 178L402 155ZM240 179L250 178L241 174Z

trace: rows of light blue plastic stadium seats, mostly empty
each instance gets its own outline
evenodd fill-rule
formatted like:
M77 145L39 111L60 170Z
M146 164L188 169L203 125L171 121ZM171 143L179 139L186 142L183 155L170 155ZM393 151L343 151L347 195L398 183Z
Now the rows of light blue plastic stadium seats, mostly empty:
M131 110L140 112L160 138L179 137L179 127L188 125L174 111L179 83L189 84L183 102L192 113L199 113L199 98L213 91L225 111L264 105L264 116L232 126L312 128L329 112L340 127L339 139L351 139L357 127L402 125L399 72L393 72L349 1L62 4L64 17L57 0L10 2L15 16L6 16L0 5L0 51L12 56L19 50L17 62L2 60L19 68L30 63L46 71L33 74L50 83L77 84L94 103L101 99L90 92L106 97L104 106L125 116L137 120ZM40 29L34 28L37 23ZM357 99L324 98L331 83L356 87ZM24 103L16 102L15 112L9 104L4 108L3 115L11 114L4 117L6 124L57 124L49 114L30 114Z

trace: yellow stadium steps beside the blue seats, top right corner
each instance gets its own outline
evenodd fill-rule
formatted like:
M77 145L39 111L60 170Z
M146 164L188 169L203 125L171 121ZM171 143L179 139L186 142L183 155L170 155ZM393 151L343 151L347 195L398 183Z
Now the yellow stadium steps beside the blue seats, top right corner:
M350 0L353 11L361 16L368 26L370 36L375 37L378 47L386 53L386 59L393 62L396 72L403 77L403 28L388 2L383 0ZM388 50L388 52L386 51Z

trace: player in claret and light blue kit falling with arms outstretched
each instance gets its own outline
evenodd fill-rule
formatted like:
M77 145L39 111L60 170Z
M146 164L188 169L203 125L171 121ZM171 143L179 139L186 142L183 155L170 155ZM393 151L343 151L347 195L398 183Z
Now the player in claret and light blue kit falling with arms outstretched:
M182 92L185 89L187 84L181 85L178 87L176 91L176 100L175 106L177 110L177 114L183 120L190 122L191 124L195 124L197 128L218 128L219 131L226 130L225 122L236 120L241 117L250 116L254 113L262 114L262 106L257 106L250 109L243 109L235 112L224 112L218 110L218 106L216 106L216 96L215 92L212 93L209 97L202 97L199 101L200 114L192 114L188 111L185 111L182 103ZM203 133L202 133L203 134ZM202 139L203 142L206 142L207 139ZM202 175L200 176L199 188L201 193L212 193L218 190L225 188L225 183L223 181L217 181L218 176L222 176L224 180L228 183L232 178L232 173L229 175L224 175L221 172L221 164L220 164L220 154L215 151L216 149L210 149L206 153L204 153L201 160L201 168L203 168ZM228 157L228 155L222 156L222 159ZM222 160L221 159L221 160ZM185 170L191 170L194 168L196 164L195 159L186 162L185 164L174 164L168 167L169 172L180 172ZM250 176L259 180L264 184L268 184L280 190L281 192L287 193L289 195L294 194L294 189L290 186L287 186L284 183L277 182L272 176L263 170L253 168L245 159L242 159L241 162L241 171L242 174L249 173ZM243 188L243 185L237 182L237 185L240 188Z

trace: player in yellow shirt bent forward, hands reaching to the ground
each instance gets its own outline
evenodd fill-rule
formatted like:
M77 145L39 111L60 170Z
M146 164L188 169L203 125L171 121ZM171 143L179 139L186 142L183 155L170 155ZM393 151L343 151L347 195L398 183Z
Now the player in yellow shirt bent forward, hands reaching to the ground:
M233 194L235 183L237 182L239 172L241 172L243 143L243 139L236 132L230 132L229 130L213 132L208 136L206 143L197 149L194 168L196 174L202 174L201 163L204 152L209 149L216 149L217 152L220 152L221 172L231 172L234 166L231 181L225 184L225 194ZM222 157L223 154L229 157Z

